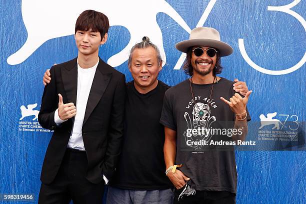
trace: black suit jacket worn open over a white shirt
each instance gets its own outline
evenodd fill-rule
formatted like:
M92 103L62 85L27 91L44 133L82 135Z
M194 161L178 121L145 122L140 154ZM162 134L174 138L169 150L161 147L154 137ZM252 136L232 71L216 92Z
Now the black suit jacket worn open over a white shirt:
M44 87L38 114L40 125L53 129L41 169L40 180L51 183L59 169L72 131L73 118L60 126L54 123L58 108L58 93L63 103L76 104L76 58L51 67L51 81ZM123 135L125 76L99 59L86 105L82 137L87 154L86 178L101 182L102 174L108 179L115 170Z

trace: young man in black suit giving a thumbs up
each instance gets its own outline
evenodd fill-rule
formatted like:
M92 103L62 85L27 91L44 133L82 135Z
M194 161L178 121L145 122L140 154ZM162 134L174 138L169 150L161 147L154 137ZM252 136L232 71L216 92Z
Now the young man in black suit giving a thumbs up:
M125 77L98 57L108 18L83 11L75 23L77 57L51 67L38 121L53 129L38 203L101 203L120 153Z

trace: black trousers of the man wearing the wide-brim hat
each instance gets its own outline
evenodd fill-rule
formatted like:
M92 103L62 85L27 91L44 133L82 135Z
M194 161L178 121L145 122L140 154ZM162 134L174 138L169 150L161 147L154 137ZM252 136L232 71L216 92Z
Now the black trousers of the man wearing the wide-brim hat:
M197 190L195 195L178 196L184 187L174 190L174 204L235 204L236 194L228 191Z

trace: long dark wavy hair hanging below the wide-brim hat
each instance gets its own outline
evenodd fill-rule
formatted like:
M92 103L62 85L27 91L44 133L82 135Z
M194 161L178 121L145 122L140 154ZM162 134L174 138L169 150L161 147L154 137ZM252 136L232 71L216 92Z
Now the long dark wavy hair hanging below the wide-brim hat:
M220 54L219 54L219 50L218 49L216 49L216 50L217 50L217 53L216 53L216 62L215 62L214 68L212 69L212 74L214 76L216 74L218 74L218 73L221 73L222 69L223 69L223 67L221 66L221 57L220 57ZM193 67L191 65L191 56L192 56L192 47L190 47L188 49L185 61L183 63L183 70L189 76L193 75Z

